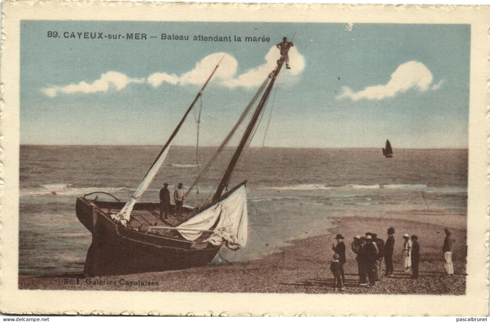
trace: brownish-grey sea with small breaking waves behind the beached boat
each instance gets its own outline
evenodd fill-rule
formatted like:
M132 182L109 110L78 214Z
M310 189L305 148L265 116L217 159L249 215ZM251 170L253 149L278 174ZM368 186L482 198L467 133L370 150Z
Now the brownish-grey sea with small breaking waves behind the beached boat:
M216 150L172 147L142 201L158 202L164 183L171 192L178 183L189 187ZM82 273L92 236L76 218L76 198L105 191L128 200L159 151L159 146L21 145L19 274ZM186 204L209 200L232 154L232 148L222 151ZM294 240L325 234L347 213L466 214L467 164L466 149L396 149L388 159L381 148L250 147L229 184L231 189L247 180L247 245L238 251L223 247L213 263L280 252Z

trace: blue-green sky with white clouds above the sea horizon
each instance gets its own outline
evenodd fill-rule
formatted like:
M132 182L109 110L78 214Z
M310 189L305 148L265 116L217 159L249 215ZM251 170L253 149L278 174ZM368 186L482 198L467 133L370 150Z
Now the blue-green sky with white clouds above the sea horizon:
M292 69L279 74L252 146L265 137L273 147L379 148L390 139L393 149L467 148L470 26L373 23L23 21L21 144L163 145L223 58L196 104L199 145L219 145L274 68L283 36L294 43ZM173 144L196 144L192 114Z

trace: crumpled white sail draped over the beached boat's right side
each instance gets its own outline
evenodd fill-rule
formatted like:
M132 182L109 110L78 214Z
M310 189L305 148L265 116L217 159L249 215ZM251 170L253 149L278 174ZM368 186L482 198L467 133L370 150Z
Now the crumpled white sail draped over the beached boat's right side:
M233 250L245 247L248 233L245 184L219 203L180 224L179 228L182 230L178 232L185 239L194 241L202 234L202 230L209 230L215 224L213 233L203 242L218 246L225 241L226 246ZM192 230L185 230L186 228Z

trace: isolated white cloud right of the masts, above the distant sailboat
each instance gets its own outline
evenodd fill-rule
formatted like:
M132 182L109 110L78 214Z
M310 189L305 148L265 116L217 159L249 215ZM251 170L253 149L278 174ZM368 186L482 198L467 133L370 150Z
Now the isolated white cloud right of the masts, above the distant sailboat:
M353 92L349 87L343 87L343 93L336 98L350 98L353 101L358 101L363 98L381 100L386 97L393 97L397 93L407 92L411 89L426 92L429 90L432 79L432 73L424 64L410 61L398 66L386 85L369 86L360 92ZM442 81L434 85L431 90L435 91L441 85Z

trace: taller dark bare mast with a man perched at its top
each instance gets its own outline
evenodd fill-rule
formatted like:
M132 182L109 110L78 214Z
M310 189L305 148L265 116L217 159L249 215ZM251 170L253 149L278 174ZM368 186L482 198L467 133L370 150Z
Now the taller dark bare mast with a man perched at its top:
M257 108L255 109L255 112L254 112L250 122L247 125L245 133L244 133L240 143L238 144L237 149L235 150L235 154L231 158L231 161L228 164L228 167L226 168L226 170L224 172L223 178L221 178L221 182L218 185L218 189L216 190L216 192L213 196L213 202L216 202L218 199L220 199L224 188L228 185L228 182L230 181L231 175L233 174L233 170L235 170L235 166L237 165L237 162L240 160L240 157L244 151L244 148L246 146L248 138L250 138L250 135L253 132L255 124L257 123L257 120L259 119L259 116L261 115L262 110L264 109L264 106L267 102L267 99L269 98L270 91L272 90L272 87L274 86L274 82L277 78L277 75L279 75L279 72L281 71L281 68L284 64L284 61L286 59L286 55L288 54L290 47L291 47L291 45L285 50L284 54L279 59L276 68L271 73L271 76L270 76L271 79L270 79L269 86L267 87L266 91L264 92L264 95L262 95L262 98L261 98L259 104L257 105Z

